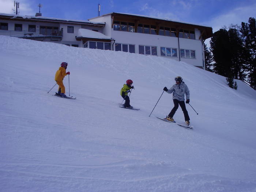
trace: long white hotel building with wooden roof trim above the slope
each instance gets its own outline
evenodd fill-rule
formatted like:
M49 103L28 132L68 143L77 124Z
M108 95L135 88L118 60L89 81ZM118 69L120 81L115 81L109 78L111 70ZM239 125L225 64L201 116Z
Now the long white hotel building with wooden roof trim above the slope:
M168 57L204 69L203 42L212 28L116 12L86 21L0 13L0 35Z

